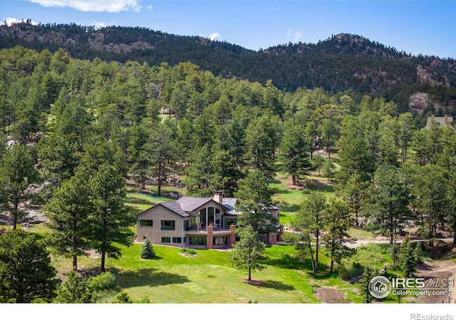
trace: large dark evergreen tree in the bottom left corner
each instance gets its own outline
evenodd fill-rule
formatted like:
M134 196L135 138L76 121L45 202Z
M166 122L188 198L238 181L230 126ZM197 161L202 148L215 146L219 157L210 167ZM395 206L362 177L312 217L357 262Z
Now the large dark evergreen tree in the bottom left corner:
M24 230L0 236L0 303L51 302L58 285L46 244Z

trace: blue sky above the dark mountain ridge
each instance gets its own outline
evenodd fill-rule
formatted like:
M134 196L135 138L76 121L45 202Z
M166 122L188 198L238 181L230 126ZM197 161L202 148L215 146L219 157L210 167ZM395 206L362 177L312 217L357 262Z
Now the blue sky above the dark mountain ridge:
M0 21L141 26L259 50L353 33L413 55L456 58L456 1L0 0Z

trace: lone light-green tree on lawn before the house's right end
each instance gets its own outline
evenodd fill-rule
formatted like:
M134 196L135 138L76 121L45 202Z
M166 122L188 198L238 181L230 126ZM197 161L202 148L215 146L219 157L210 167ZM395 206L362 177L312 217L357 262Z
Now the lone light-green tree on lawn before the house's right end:
M246 225L239 229L239 241L234 243L229 260L234 267L242 270L249 270L248 280L252 280L252 270L263 270L264 261L264 243L258 240L258 233L251 225Z

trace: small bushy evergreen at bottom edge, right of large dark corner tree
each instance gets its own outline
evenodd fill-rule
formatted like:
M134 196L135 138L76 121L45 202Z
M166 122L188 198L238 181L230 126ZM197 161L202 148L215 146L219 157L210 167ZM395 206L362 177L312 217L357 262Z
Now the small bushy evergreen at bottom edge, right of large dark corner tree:
M68 273L68 279L57 290L55 302L61 304L90 304L95 297L87 279L79 279L75 270Z

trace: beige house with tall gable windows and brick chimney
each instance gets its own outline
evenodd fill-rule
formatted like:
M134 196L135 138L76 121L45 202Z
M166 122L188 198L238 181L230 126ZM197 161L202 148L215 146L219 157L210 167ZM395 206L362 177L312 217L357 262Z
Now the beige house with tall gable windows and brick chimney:
M177 201L157 203L138 213L137 238L142 242L147 235L154 244L207 249L226 249L236 242L234 229L242 213L234 207L237 198L224 198L223 191L214 191L212 198L184 196ZM280 208L271 215L279 218ZM281 241L283 228L276 225L276 233L260 233L259 239L268 245Z

